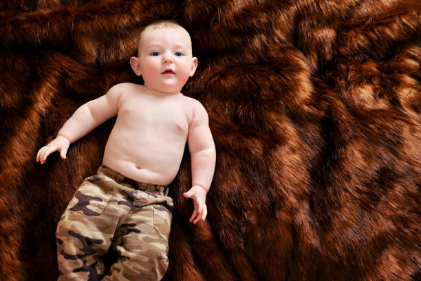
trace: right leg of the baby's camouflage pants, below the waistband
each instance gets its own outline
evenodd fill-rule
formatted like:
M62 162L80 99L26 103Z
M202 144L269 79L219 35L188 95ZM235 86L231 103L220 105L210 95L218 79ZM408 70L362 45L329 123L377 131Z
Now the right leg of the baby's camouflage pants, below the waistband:
M118 262L103 280L161 280L168 267L173 201L139 190L134 204L118 231Z

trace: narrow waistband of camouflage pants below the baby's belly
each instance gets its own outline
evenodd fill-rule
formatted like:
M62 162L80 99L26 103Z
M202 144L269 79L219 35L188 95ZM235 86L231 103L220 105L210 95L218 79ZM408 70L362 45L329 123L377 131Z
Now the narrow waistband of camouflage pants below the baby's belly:
M116 181L116 183L120 183L121 185L130 185L133 189L140 189L143 191L153 192L155 194L160 194L167 196L168 194L168 186L167 185L154 185L153 183L141 183L136 180L132 180L131 178L127 178L127 176L123 176L118 171L114 171L110 167L105 165L101 165L98 168L98 175L105 175L109 178L112 178Z

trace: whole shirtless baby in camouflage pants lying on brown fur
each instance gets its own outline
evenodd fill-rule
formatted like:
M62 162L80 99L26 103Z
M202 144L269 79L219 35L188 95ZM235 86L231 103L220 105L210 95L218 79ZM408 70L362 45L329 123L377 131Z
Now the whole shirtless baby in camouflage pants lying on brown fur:
M96 175L86 178L58 222L58 280L160 280L168 267L173 201L168 194L188 143L190 222L204 221L215 171L215 144L204 107L180 91L197 67L191 39L173 21L148 25L131 67L144 85L121 83L80 106L36 155L66 158L70 143L117 115ZM118 261L105 275L102 256Z

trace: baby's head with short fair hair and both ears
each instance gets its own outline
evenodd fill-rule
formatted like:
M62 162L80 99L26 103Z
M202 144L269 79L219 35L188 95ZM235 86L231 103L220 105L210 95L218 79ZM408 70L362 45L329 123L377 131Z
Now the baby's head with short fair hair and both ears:
M175 21L157 21L148 25L138 39L138 56L130 64L145 87L155 92L179 93L188 78L195 74L188 32Z

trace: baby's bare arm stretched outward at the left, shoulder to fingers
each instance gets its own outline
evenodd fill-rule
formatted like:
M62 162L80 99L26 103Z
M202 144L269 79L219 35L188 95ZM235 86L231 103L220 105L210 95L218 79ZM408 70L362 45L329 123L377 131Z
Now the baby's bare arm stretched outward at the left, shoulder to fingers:
M36 162L45 163L47 156L56 151L59 151L61 158L65 159L71 143L82 138L109 118L116 116L118 99L122 93L121 85L115 85L104 96L81 105L58 131L57 137L39 149L36 154Z

